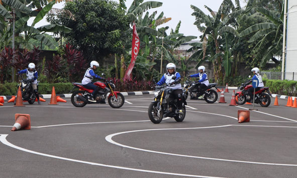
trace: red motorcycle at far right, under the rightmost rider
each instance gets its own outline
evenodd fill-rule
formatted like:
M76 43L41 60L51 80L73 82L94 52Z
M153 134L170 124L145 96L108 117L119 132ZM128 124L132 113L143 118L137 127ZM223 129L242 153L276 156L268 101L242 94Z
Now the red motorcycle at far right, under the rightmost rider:
M237 92L235 94L236 103L238 105L243 105L246 102L251 102L251 97L249 96L248 89L250 87L253 87L253 85L249 85L250 82L251 80L245 83L241 83L241 86L239 88L241 92ZM260 90L255 93L255 104L259 104L262 107L268 107L271 102L270 97L272 96L270 94L269 87L261 87Z

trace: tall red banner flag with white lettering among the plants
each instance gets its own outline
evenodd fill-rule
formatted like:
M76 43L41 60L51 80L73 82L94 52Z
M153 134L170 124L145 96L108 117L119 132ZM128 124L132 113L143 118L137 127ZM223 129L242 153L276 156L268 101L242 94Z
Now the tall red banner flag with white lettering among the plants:
M134 67L135 61L136 61L136 57L138 55L138 51L139 51L139 46L140 46L140 40L136 31L136 26L135 23L133 22L133 38L132 38L132 59L131 59L131 63L125 73L125 78L128 78L129 80L131 79L131 73L132 73L132 69Z

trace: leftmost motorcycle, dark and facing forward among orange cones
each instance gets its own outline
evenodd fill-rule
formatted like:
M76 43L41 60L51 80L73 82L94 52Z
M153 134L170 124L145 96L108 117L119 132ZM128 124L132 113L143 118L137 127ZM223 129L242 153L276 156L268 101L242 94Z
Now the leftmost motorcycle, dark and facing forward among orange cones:
M18 73L16 75L22 77L22 80L20 80L20 84L18 85L18 90L19 90L19 87L21 87L23 101L28 101L28 103L32 105L36 101L36 95L31 86L32 80L26 79ZM37 82L37 89L38 89L38 82ZM18 97L18 93L16 95L14 105L16 105L17 103L17 97Z

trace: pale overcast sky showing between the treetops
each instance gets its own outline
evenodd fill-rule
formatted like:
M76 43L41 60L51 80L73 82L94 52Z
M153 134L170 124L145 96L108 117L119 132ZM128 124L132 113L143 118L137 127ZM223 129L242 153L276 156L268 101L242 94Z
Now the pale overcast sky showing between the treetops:
M116 2L119 2L118 0L114 0ZM199 38L200 35L202 35L201 32L197 30L197 27L193 25L195 22L195 17L191 16L191 14L194 12L190 6L193 5L199 9L201 9L205 14L210 15L209 11L204 7L206 5L207 7L211 8L213 11L218 11L220 5L222 4L223 0L209 0L209 1L202 1L202 0L155 0L157 2L162 2L162 7L154 8L149 10L148 12L150 15L152 12L157 11L157 16L164 12L164 17L166 18L172 18L171 21L158 26L157 28L161 27L169 27L168 34L170 33L170 29L172 28L175 30L176 25L179 21L181 21L181 26L179 29L179 33L183 33L185 36L196 36ZM131 6L133 0L126 0L126 6L127 9ZM144 2L147 2L145 0ZM232 0L233 4L235 5L235 0ZM243 7L245 4L241 1L241 7ZM58 3L55 4L53 8L62 9L64 7L64 3ZM145 15L145 13L144 13ZM143 15L143 16L144 16ZM156 17L157 17L156 16ZM28 22L29 25L31 25L33 22L33 18L31 18ZM37 23L35 27L40 27L43 25L47 25L45 18Z

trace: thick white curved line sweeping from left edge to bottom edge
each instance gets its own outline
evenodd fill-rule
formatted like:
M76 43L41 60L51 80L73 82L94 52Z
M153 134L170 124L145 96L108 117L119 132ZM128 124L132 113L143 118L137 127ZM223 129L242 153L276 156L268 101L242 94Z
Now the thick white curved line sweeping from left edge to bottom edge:
M14 144L7 141L7 139L6 139L7 136L8 136L8 134L0 134L0 141L3 144L7 145L7 146L10 146L12 148L15 148L15 149L18 149L18 150L21 150L21 151L25 151L25 152L28 152L28 153L37 154L37 155L46 156L46 157L52 157L52 158L56 158L56 159L62 159L62 160L67 160L67 161L72 161L72 162L79 162L79 163L90 164L90 165L98 165L98 166L104 166L104 167L125 169L125 170L134 170L134 171L140 171L140 172L149 172L149 173L158 173L158 174L167 174L167 175L178 175L178 176L189 176L189 177L222 178L222 177L213 177L213 176L191 175L191 174L182 174L182 173L161 172L161 171L155 171L155 170L135 169L135 168L130 168L130 167L122 167L122 166L101 164L101 163L96 163L96 162L88 162L88 161L82 161L82 160L78 160L78 159L70 159L70 158L66 158L66 157L54 156L54 155L40 153L40 152L36 152L36 151L32 151L32 150L29 150L29 149L25 149L25 148L16 146L16 145L14 145Z

